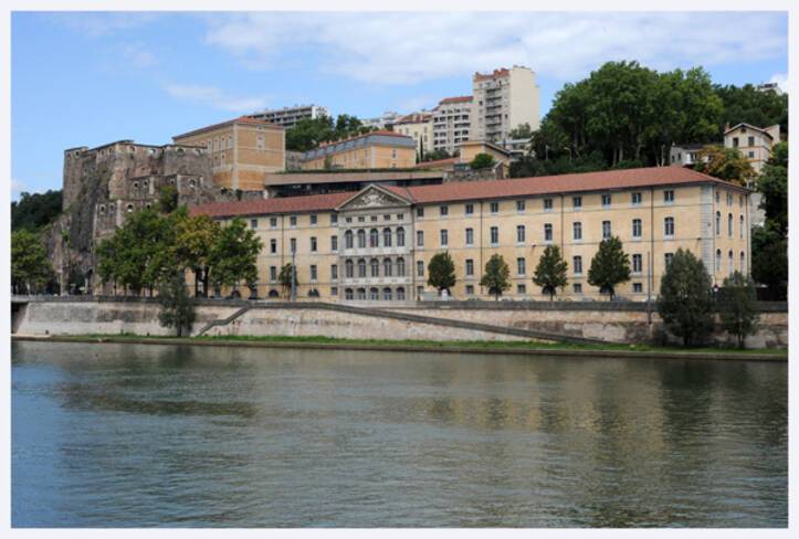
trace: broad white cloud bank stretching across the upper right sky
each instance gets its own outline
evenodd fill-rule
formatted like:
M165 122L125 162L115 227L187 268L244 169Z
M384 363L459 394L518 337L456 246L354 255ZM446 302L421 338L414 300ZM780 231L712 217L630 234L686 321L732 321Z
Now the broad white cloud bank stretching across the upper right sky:
M787 54L787 17L766 12L259 12L204 20L207 43L249 67L280 68L284 54L313 50L325 71L386 84L513 64L566 81L608 60L673 68Z

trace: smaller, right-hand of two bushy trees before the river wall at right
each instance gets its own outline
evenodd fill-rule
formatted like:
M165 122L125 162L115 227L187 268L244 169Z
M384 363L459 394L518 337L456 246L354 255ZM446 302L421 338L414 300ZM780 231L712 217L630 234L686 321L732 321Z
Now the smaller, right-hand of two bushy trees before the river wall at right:
M759 318L755 283L740 272L733 273L718 290L717 307L722 327L737 338L738 348L744 348L746 336L755 334Z

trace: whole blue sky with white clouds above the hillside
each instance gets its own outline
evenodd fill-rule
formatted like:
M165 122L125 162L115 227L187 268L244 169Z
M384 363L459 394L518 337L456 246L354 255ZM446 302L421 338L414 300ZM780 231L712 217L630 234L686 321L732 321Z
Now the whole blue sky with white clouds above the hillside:
M730 31L730 29L733 31ZM608 61L701 65L787 88L781 12L13 12L12 198L60 189L64 149L171 136L263 108L368 118L469 95L475 71L537 74L542 116Z

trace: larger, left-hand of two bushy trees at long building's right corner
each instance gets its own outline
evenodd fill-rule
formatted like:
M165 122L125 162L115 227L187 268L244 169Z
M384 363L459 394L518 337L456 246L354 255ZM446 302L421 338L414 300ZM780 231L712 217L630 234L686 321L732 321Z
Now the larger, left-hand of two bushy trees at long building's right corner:
M713 329L711 276L691 251L677 249L661 278L658 314L684 346L701 341Z

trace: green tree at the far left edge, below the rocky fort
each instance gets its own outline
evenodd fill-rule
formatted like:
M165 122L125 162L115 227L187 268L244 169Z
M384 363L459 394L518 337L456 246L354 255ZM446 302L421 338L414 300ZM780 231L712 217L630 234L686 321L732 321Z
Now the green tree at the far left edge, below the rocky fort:
M52 276L53 266L39 234L25 229L12 232L11 285L14 292L41 292Z

